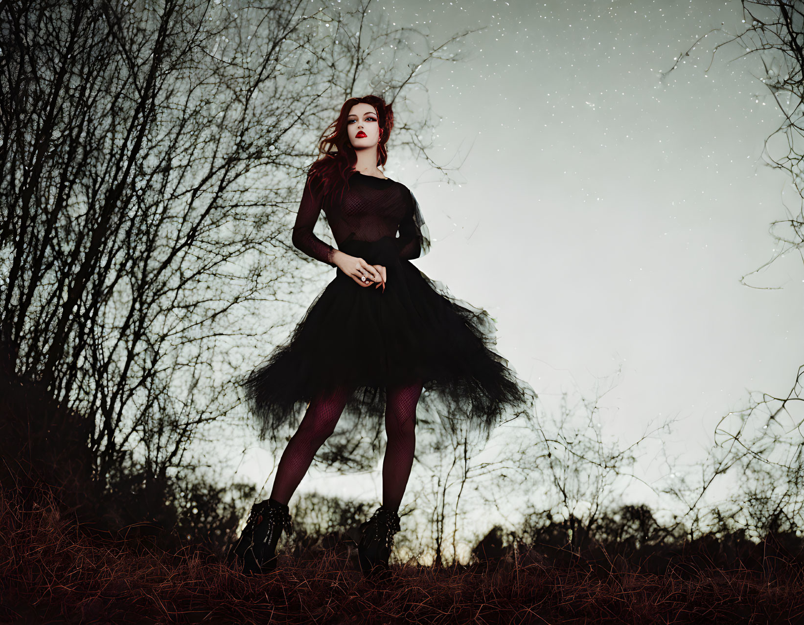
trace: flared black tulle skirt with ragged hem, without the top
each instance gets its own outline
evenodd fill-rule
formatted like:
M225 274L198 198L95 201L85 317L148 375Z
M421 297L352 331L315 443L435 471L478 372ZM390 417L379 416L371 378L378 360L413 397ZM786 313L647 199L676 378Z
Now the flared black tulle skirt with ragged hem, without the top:
M535 392L495 351L489 313L398 259L390 237L338 247L384 265L385 289L355 284L338 269L287 341L248 374L242 383L260 436L297 426L316 394L343 385L354 391L339 423L369 435L384 423L392 384L422 384L417 416L486 435L501 420L532 414Z

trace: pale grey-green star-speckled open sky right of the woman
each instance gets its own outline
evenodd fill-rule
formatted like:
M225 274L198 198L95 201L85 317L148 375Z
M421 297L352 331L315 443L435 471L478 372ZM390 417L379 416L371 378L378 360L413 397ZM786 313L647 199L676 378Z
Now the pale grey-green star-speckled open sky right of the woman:
M539 410L597 383L611 389L600 402L609 435L631 443L674 415L673 451L693 458L749 390L786 394L804 343L800 260L746 278L772 290L740 284L774 254L769 223L800 201L762 165L781 113L754 77L761 63L735 60L735 44L712 58L728 39L715 32L659 80L721 22L739 31L740 2L379 6L426 22L431 45L487 26L461 46L469 60L422 79L441 116L431 156L464 159L460 185L392 151L386 172L411 188L433 236L416 267L497 318L498 351ZM242 475L262 484L273 460L250 454ZM648 479L662 475L645 463Z

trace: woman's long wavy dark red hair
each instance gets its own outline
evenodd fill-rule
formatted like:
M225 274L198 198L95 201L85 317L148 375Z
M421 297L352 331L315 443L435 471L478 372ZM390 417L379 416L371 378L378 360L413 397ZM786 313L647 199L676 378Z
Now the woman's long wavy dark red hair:
M385 100L379 96L349 98L343 103L338 119L326 127L321 140L318 141L318 160L310 165L310 175L318 179L319 185L322 184L322 192L325 196L332 197L334 193L343 196L352 170L355 169L357 154L349 139L347 122L351 108L361 102L371 104L375 108L377 123L382 130L377 144L377 166L385 165L385 161L388 160L388 150L385 148L385 144L388 143L388 137L394 127L394 112L391 104L385 104ZM331 133L330 129L332 129Z

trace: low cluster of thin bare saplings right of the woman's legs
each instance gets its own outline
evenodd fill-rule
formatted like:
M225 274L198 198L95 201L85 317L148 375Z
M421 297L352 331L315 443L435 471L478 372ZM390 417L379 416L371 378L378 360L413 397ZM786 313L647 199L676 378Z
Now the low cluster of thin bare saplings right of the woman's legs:
M564 537L564 545L580 552L620 489L642 481L634 472L638 448L671 427L668 418L621 448L602 434L601 397L589 400L581 394L571 405L564 393L556 417L540 416L545 411L539 403L535 414L511 419L489 441L459 422L447 436L437 427L438 444L416 451L424 476L411 490L428 529L419 552L432 554L435 566L457 562L460 543L480 538L474 535L478 530L462 529L466 521L477 525L478 510L488 519L487 513L496 511L511 528L530 527L539 517ZM426 424L420 429L430 434ZM655 492L651 484L646 487ZM501 536L502 527L493 528L483 541ZM487 556L489 549L485 545L480 551Z

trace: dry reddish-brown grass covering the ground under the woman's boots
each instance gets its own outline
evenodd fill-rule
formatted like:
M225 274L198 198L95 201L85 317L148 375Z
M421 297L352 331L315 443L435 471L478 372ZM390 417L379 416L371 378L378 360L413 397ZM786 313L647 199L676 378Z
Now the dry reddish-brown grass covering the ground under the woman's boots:
M658 575L520 553L488 567L398 565L371 582L340 545L311 558L286 549L274 574L250 578L198 547L100 537L49 501L2 492L3 623L804 623L790 563L769 582L745 567Z

